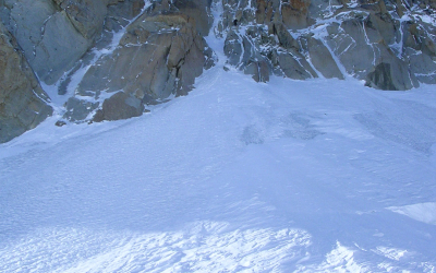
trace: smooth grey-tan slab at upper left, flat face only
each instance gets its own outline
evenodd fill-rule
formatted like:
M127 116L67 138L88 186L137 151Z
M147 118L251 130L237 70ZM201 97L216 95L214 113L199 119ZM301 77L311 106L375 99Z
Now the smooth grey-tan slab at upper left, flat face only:
M10 7L9 29L33 70L48 84L71 69L90 46L51 0L16 0Z

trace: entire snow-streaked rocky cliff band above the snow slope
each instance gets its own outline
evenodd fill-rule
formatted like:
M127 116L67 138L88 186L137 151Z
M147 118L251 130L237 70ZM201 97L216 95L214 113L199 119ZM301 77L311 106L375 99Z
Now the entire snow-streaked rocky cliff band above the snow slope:
M435 84L435 0L0 0L0 142L51 112L38 81L65 96L64 122L141 116L187 94L217 60L207 35L225 40L225 69L257 82Z

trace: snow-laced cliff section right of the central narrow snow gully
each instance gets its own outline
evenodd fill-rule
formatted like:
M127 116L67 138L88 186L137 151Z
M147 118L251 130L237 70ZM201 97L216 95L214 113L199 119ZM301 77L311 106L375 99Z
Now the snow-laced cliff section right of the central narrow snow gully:
M351 75L375 88L409 90L436 83L433 5L223 0L215 33L226 37L228 63L256 81L270 74L296 80Z

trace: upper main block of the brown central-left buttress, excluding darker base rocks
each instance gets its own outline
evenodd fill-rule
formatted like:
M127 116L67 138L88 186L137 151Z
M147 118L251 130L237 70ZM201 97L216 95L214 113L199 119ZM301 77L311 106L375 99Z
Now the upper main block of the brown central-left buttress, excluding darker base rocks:
M194 81L191 72L197 76L203 71L204 48L205 41L186 16L140 17L129 26L120 47L88 70L77 93L124 90L141 99L145 94L154 99L185 94ZM187 71L196 59L199 68L193 66Z

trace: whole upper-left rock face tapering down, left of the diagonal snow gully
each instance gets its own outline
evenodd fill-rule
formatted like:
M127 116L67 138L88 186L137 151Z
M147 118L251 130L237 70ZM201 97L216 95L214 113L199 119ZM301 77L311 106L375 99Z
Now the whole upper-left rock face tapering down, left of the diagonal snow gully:
M2 0L1 21L38 78L56 83L100 37L118 0Z

